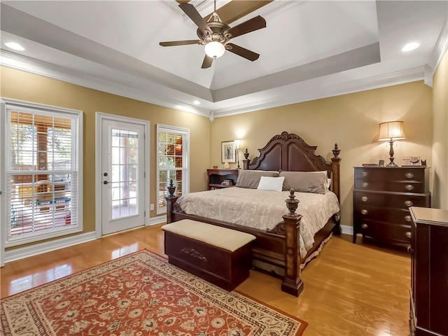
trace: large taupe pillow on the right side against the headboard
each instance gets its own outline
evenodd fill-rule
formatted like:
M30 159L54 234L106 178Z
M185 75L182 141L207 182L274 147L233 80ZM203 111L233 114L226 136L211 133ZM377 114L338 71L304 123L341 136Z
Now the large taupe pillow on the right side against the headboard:
M285 176L283 190L294 189L300 193L325 194L326 172L325 174L316 174L316 172L280 172L280 176Z

